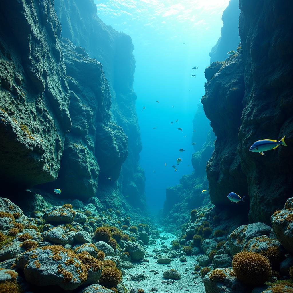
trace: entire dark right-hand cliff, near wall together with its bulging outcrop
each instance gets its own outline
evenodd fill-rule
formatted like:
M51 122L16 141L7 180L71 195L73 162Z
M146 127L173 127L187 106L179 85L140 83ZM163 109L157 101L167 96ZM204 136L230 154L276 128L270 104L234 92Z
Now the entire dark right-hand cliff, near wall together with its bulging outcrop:
M202 103L217 136L207 166L211 199L223 205L227 194L238 190L249 197L251 222L269 224L270 215L291 192L292 5L241 0L242 50L206 71ZM265 156L249 151L259 139L284 135L287 148L280 146Z

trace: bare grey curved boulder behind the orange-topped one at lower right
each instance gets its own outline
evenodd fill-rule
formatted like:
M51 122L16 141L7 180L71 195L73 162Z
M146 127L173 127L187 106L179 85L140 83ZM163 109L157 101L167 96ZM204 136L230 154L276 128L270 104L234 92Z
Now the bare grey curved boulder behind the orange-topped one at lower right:
M235 253L242 251L244 245L254 237L268 236L270 232L271 227L260 222L238 227L228 235L231 255L233 256Z

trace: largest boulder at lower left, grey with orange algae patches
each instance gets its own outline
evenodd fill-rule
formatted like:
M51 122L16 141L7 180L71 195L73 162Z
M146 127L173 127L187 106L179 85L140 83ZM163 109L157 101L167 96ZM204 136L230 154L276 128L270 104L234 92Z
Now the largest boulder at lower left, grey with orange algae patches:
M44 246L27 251L19 258L25 280L37 286L57 285L74 290L87 280L84 264L71 250L62 246Z

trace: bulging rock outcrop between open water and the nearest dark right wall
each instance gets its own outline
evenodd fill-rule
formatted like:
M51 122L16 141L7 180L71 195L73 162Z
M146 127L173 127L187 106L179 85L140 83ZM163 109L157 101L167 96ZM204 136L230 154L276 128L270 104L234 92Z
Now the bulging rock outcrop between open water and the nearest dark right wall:
M226 63L215 62L205 70L206 93L202 104L217 137L212 157L207 163L209 194L214 205L245 211L248 198L237 205L229 202L230 192L247 194L246 177L237 154L238 132L241 125L244 95L244 69L241 53L229 57ZM219 123L221 121L221 123Z

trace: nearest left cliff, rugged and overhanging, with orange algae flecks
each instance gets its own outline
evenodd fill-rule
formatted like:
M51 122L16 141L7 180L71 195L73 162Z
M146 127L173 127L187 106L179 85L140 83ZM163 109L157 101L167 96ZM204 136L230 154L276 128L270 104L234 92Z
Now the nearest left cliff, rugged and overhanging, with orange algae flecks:
M71 126L60 33L52 1L1 1L0 176L18 188L59 171Z

